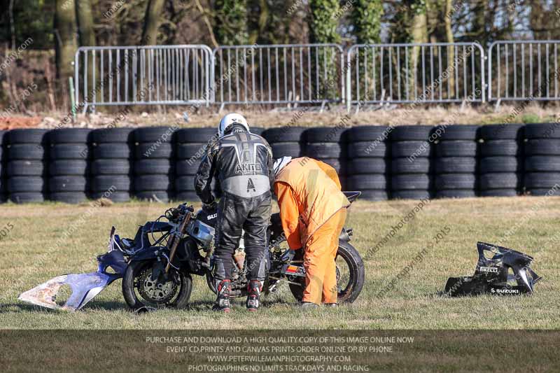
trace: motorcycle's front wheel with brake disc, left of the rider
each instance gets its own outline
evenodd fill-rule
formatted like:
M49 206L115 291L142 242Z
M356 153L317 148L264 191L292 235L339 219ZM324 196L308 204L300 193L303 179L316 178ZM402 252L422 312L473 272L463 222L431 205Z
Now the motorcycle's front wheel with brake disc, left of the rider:
M141 309L185 308L193 291L193 279L172 269L167 280L152 279L155 260L132 262L123 276L123 296L134 311Z

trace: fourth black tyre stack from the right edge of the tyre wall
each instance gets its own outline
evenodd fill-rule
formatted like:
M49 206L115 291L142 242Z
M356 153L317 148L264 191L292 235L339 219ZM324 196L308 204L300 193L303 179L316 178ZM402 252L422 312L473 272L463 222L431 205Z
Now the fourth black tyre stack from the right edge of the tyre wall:
M431 126L404 125L391 132L392 199L432 197L432 129Z

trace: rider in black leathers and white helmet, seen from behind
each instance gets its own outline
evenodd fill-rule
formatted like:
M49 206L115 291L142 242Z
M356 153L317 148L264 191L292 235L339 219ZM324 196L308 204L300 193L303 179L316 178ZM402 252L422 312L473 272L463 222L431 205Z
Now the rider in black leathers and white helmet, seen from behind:
M246 307L256 311L265 280L265 250L274 183L272 149L265 139L249 132L242 115L230 113L218 126L220 138L202 158L195 176L195 190L203 208L215 205L210 183L214 175L223 195L218 204L214 279L216 311L230 311L232 255L244 230L248 266Z

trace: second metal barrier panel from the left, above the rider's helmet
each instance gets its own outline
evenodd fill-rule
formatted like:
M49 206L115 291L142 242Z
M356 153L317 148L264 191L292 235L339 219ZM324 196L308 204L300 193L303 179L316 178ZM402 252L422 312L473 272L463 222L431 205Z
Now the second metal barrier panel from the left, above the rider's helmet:
M222 105L344 100L344 51L337 44L220 46L214 61L214 93Z

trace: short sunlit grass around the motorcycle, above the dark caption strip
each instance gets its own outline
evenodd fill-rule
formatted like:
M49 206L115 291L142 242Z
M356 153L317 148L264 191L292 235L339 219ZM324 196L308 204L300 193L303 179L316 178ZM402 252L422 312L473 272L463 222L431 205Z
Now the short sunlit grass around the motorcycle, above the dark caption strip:
M365 286L356 302L294 317L300 311L286 286L265 298L255 318L241 300L229 315L212 312L214 295L197 276L188 310L133 314L120 293L120 281L75 314L28 306L17 300L22 291L59 274L94 271L95 255L106 250L111 225L122 237L133 236L137 225L157 217L167 206L144 202L95 208L4 204L0 206L0 230L7 232L0 239L0 328L560 328L559 197L434 200L386 244L378 245L417 205L416 201L353 204L346 225L354 229L352 243L362 254L366 270ZM69 230L73 234L65 238ZM472 275L477 241L533 255L533 269L544 277L535 294L453 299L440 295L449 276ZM372 253L376 246L379 250ZM422 261L416 262L407 278L387 288L424 248Z

